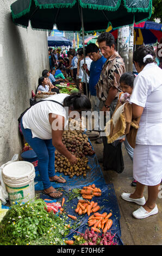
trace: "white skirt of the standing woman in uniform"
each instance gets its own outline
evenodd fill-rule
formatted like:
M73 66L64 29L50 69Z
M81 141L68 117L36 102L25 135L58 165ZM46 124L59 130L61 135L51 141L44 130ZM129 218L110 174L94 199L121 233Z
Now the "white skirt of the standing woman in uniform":
M162 145L135 144L133 177L147 186L160 184L162 179Z

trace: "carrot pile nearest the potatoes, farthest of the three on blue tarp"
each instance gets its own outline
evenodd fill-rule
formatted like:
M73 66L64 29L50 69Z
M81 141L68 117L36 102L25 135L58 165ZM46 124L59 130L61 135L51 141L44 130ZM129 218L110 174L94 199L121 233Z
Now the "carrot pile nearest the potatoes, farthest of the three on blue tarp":
M92 197L100 197L101 196L101 189L96 187L95 184L83 187L82 190L80 190L80 193L82 194L82 197L84 199L91 200Z

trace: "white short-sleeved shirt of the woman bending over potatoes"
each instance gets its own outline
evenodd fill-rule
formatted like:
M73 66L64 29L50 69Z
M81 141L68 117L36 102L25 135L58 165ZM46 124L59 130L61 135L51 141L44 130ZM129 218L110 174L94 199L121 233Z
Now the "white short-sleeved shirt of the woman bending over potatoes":
M40 139L52 138L52 127L49 123L49 113L61 115L65 118L65 126L68 124L68 118L65 108L58 103L49 101L55 100L63 103L65 97L68 94L56 94L47 99L44 102L37 103L32 106L22 117L22 124L24 129L32 130L32 137Z

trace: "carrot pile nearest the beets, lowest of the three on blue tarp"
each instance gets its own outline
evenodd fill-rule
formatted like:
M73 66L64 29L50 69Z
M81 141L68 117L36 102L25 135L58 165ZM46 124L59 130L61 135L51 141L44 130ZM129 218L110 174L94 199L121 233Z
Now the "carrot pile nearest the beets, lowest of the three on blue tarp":
M89 217L88 225L91 227L91 230L101 233L100 229L102 229L103 233L107 232L111 228L113 221L109 219L111 217L111 212L107 214L104 212L103 214L99 214L99 212L95 212L92 216Z

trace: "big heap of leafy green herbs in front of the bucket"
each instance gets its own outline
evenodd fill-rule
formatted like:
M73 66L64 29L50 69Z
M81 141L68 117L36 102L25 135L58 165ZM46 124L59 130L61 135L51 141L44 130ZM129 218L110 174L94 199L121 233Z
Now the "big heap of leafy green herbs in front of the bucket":
M63 245L68 233L64 218L35 199L11 206L0 223L0 245Z

